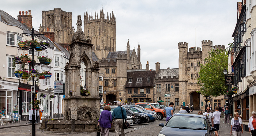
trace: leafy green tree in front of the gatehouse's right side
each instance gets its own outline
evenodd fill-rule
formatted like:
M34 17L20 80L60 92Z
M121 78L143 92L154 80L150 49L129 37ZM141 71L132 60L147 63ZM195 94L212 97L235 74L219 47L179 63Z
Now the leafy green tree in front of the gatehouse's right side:
M217 97L226 94L225 78L223 70L228 66L227 51L224 49L212 49L209 56L204 59L205 64L200 65L197 78L200 92L204 96Z

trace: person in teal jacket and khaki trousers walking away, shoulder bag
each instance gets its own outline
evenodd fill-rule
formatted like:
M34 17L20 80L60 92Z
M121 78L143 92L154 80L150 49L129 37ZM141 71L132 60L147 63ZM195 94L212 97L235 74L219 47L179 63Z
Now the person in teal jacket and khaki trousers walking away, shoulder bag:
M116 105L117 107L114 108L112 112L112 118L115 122L116 136L119 136L120 129L121 129L121 136L125 136L124 129L123 129L123 118L127 123L126 110L124 109L124 107L121 107L122 103L120 101L117 102ZM123 112L123 116L122 116L122 112Z

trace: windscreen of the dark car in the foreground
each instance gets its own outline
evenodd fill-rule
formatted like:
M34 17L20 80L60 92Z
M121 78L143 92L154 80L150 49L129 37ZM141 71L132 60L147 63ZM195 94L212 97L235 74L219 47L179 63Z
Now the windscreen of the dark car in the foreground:
M166 123L166 126L173 128L207 130L207 123L204 118L190 116L173 116Z

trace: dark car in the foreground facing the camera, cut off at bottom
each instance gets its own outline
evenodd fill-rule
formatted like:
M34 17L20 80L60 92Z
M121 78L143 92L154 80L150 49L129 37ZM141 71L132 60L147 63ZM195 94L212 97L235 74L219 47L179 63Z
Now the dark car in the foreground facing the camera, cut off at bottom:
M158 136L213 136L216 128L211 126L208 117L199 114L174 114L163 126Z

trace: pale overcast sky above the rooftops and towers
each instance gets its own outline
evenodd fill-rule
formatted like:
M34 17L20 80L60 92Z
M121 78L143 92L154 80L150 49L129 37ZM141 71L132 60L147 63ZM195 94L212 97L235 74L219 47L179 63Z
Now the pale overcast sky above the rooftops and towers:
M202 40L213 45L233 42L237 20L235 0L1 0L0 10L17 19L19 11L31 10L32 26L38 31L42 23L42 11L61 8L72 12L72 25L76 29L77 16L84 19L86 9L116 15L116 51L138 48L140 42L141 63L146 68L178 68L178 43L188 42L189 47L201 48ZM83 21L82 21L83 22ZM82 25L83 26L83 25ZM83 29L83 28L82 28ZM201 48L202 50L202 48Z

